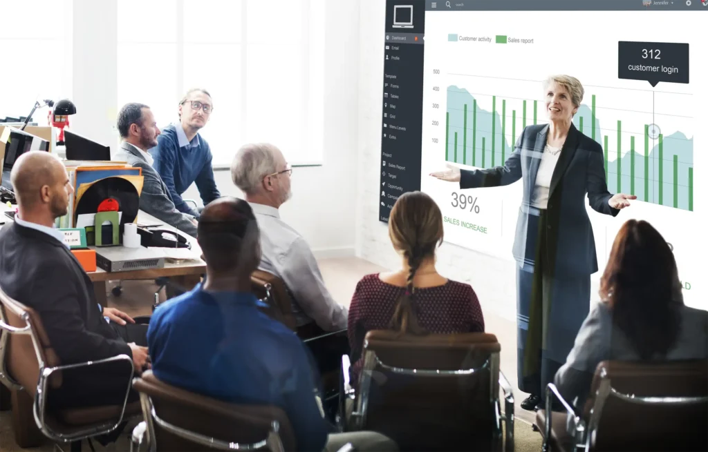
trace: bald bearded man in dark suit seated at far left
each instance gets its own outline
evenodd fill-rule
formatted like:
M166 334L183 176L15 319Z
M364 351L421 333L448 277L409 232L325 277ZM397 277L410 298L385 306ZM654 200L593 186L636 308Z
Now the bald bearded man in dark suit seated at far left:
M147 348L140 346L147 345L147 326L99 307L89 275L54 228L73 192L64 165L50 153L30 151L15 162L11 178L18 210L0 231L0 286L37 311L61 364L128 355L139 374L149 367ZM49 392L49 407L122 405L129 380L125 363L63 371L62 386ZM137 400L137 393L130 397Z

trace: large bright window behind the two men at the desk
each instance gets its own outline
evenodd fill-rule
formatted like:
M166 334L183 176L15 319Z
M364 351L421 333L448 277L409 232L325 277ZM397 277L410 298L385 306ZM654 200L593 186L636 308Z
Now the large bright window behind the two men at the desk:
M144 22L128 4L147 9ZM321 162L324 0L128 0L119 11L119 107L143 102L164 126L189 88L204 88L214 165L251 141Z

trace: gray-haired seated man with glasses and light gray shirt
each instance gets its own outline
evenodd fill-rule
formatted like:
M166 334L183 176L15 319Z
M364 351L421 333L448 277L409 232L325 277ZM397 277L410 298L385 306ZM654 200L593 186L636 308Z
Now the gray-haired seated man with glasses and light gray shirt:
M278 208L290 198L292 174L280 150L267 143L244 145L234 157L231 174L261 230L263 257L258 267L285 282L297 326L314 320L324 331L346 328L347 310L329 294L309 245L280 219Z

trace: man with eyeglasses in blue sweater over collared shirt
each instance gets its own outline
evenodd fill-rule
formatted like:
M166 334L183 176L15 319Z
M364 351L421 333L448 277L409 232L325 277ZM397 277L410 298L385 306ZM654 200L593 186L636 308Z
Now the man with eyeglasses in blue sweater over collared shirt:
M178 106L180 121L162 129L157 145L149 151L154 159L152 166L167 186L177 210L195 218L199 218L198 211L182 198L190 185L197 185L205 206L221 196L214 181L212 151L199 134L213 111L212 97L207 90L189 90Z

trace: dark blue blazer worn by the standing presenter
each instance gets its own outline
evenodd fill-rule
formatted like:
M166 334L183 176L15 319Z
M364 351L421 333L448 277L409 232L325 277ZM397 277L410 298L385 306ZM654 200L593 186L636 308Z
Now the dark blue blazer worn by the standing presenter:
M531 197L536 183L538 167L546 146L549 126L527 126L516 142L514 152L503 167L462 170L460 189L502 186L522 179L523 200L519 208L513 256L523 264L531 264L535 256L528 255L529 215L537 215L538 209L531 206ZM599 213L615 216L619 210L611 208L607 201L612 196L607 191L603 149L592 138L583 135L571 124L568 137L561 150L551 178L547 206L547 246L549 262L555 275L590 275L598 271L595 254L595 237L586 210L585 196L590 206Z

